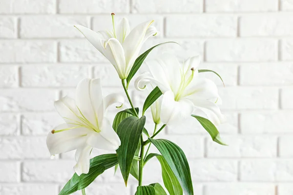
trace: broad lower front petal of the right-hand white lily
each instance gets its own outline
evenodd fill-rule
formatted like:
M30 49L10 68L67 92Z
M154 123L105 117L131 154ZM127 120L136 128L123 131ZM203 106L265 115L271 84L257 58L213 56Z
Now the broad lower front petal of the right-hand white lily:
M161 120L169 126L179 125L190 117L193 107L193 103L190 100L182 98L179 101L175 101L173 92L167 91L163 95Z

